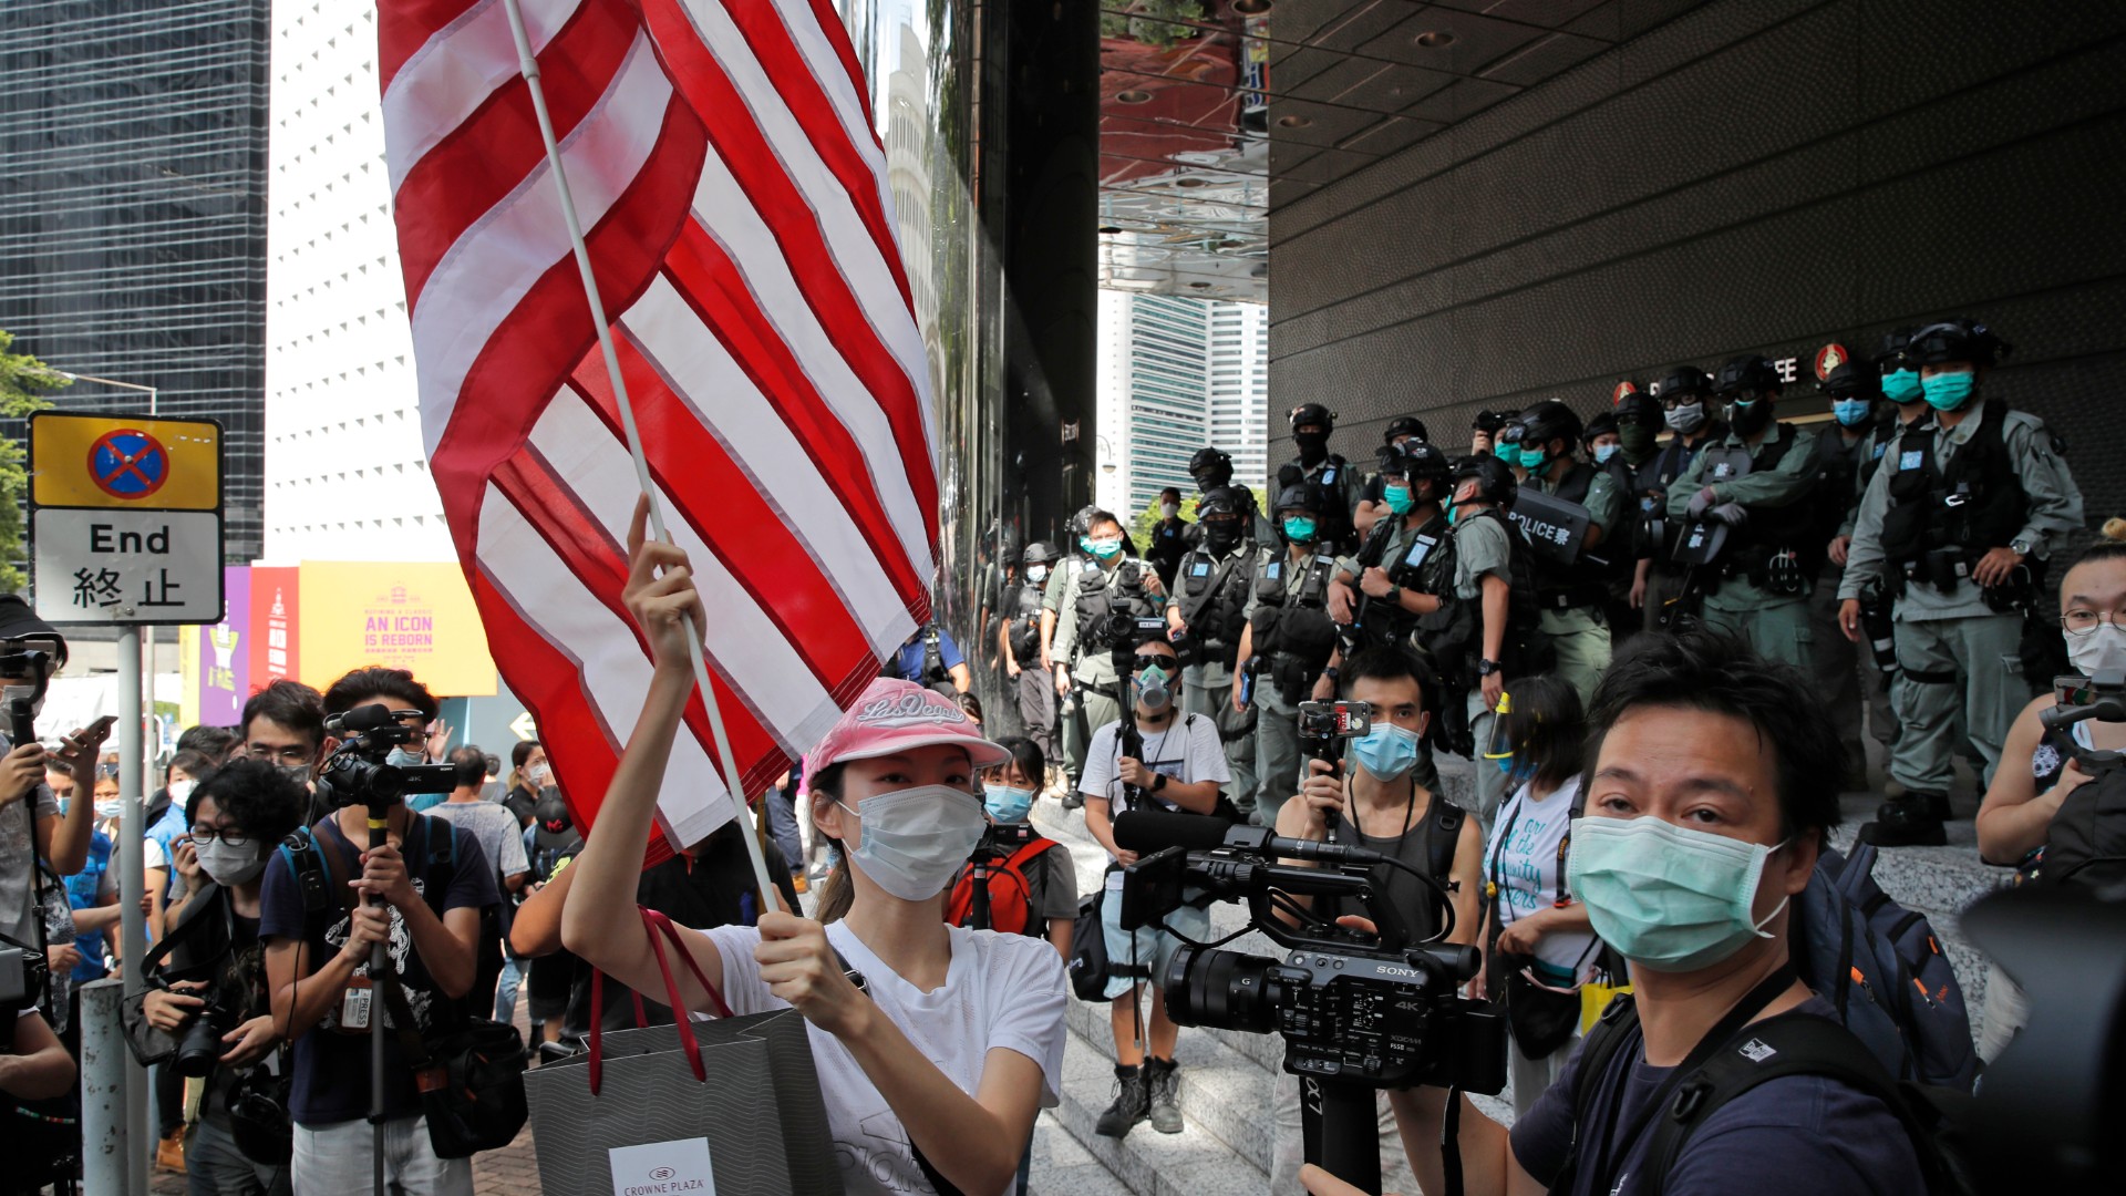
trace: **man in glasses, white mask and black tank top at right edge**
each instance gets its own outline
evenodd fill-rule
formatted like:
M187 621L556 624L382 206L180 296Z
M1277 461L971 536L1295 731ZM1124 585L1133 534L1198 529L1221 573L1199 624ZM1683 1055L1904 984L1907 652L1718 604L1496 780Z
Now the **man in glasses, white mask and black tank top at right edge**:
M2126 670L2126 519L2107 519L2103 538L2060 575L2060 630L2075 672ZM2013 864L2018 883L2066 883L2120 896L2120 868L2098 843L2117 843L2126 826L2096 794L2120 785L2113 768L2086 768L2094 751L2126 751L2126 724L2103 717L2052 726L2062 704L2090 704L2069 690L2032 698L2001 747L2001 768L1979 804L1979 856ZM2064 711L2062 711L2064 713ZM2054 715L2058 717L2058 715ZM2096 785L2096 787L2092 787ZM2073 802L2073 804L2069 804ZM1979 1056L1992 1060L2026 1026L2022 990L1998 966L1986 975L1986 1028Z

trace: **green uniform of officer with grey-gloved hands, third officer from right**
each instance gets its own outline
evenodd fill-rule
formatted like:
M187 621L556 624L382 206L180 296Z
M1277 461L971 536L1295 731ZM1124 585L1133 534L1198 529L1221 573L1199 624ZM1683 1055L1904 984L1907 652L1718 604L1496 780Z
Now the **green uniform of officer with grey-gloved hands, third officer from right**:
M1750 509L1752 521L1756 521L1769 517L1771 513L1792 511L1796 504L1809 500L1820 470L1816 462L1818 445L1811 432L1803 432L1792 423L1775 423L1765 432L1765 436L1758 438L1756 445L1752 445L1731 430L1718 447L1743 449L1754 455L1773 436L1792 436L1794 443L1771 468L1756 468L1743 477L1714 481L1714 506L1722 502L1741 502ZM1684 470L1684 477L1669 483L1669 519L1688 519L1686 511L1690 506L1690 498L1707 485L1705 462L1711 455L1714 453L1699 453L1690 460L1690 468ZM1733 528L1728 534L1741 541L1741 547L1731 549L1731 553L1748 551L1752 532L1754 528L1750 524ZM1790 547L1805 553L1813 551L1803 543L1777 547ZM1765 585L1750 581L1748 570L1737 568L1705 587L1703 621L1716 632L1726 632L1745 641L1765 660L1779 660L1792 664L1794 668L1811 666L1813 649L1807 592L1773 594Z

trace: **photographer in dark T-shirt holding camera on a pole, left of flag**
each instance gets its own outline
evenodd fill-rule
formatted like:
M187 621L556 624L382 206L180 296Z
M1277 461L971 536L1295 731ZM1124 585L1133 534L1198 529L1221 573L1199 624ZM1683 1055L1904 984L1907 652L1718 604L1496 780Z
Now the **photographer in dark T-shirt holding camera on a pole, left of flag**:
M349 719L366 707L385 713ZM389 1183L406 1196L470 1196L470 1160L438 1158L432 1143L402 1032L455 1024L455 1002L472 992L478 970L480 911L500 900L493 864L470 830L412 813L402 794L376 790L381 775L406 775L421 760L423 732L436 717L427 687L402 668L357 668L332 683L323 713L366 730L325 741L321 790L338 809L310 826L285 864L266 870L261 892L272 1009L296 1056L289 1175L298 1192L366 1190L374 1132L368 1117L381 1113ZM257 751L259 724L244 721ZM279 749L283 768L293 768L291 751L300 747ZM449 777L427 783L449 787ZM385 845L368 847L378 804L387 807ZM376 943L387 947L389 977L370 975ZM415 1026L404 1026L393 1004ZM372 1019L385 1019L389 1030L381 1111L370 1107Z

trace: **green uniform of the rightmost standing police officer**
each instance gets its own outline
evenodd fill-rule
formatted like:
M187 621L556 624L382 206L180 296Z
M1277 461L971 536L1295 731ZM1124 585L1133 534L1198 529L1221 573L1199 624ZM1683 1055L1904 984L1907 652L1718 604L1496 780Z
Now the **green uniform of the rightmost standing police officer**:
M1971 398L1977 406L1979 396ZM1971 445L1992 413L1977 406L1956 428L1939 421L1922 426L1896 441L1869 481L1854 519L1854 543L1845 558L1845 579L1839 598L1858 598L1869 581L1882 579L1896 592L1896 662L1899 719L1903 732L1890 753L1890 777L1913 792L1945 794L1954 779L1956 715L1962 713L1964 734L1986 758L1984 783L1992 783L2001 762L2001 743L2024 702L2030 681L2022 677L2022 615L1996 613L1973 581L1964 579L1941 589L1916 581L1894 585L1884 545L1890 487L1899 472L1918 468L1930 449L1937 468L1947 468L1956 453ZM2001 423L2007 462L2020 481L2026 502L2020 530L2009 545L1969 545L1975 555L1994 547L2022 545L2045 560L2058 538L2081 528L2081 489L2066 472L2045 432L2045 423L2024 411L2007 411ZM1924 445L1924 449L1922 449Z

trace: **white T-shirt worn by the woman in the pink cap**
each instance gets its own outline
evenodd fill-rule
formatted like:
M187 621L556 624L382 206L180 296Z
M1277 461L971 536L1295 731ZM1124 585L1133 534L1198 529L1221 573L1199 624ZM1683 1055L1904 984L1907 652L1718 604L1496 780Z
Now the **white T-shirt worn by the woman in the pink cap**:
M946 930L952 964L931 992L918 992L887 968L846 921L827 926L827 941L850 968L863 973L878 1009L961 1092L972 1096L980 1087L991 1047L1008 1047L1040 1064L1042 1107L1052 1109L1063 1087L1063 960L1042 938L959 926ZM761 966L753 960L761 941L757 928L716 926L704 934L723 956L723 1000L731 1013L789 1009L761 983ZM848 1196L933 1192L916 1166L908 1130L857 1058L819 1026L808 1021L806 1030Z

